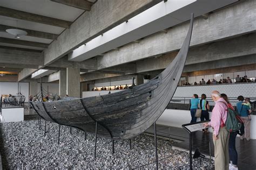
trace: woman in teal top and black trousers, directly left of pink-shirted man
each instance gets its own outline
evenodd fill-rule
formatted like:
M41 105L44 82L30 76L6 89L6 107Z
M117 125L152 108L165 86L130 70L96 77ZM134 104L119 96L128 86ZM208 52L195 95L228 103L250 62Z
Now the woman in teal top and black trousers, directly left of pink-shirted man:
M206 95L205 94L201 95L201 99L199 100L198 106L199 106L199 109L201 110L201 117L200 117L201 121L209 120L208 110L210 109L210 106L209 106L208 101L206 101ZM209 133L208 128L203 129L203 133Z

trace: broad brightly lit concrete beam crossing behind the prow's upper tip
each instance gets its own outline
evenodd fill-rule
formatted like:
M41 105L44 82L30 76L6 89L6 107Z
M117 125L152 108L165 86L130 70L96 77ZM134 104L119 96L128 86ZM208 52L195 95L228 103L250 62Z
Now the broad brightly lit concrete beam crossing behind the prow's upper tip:
M213 41L230 39L241 34L255 32L256 24L252 23L256 23L256 13L251 12L255 10L255 6L256 1L242 1L229 8L212 13L209 19L195 19L191 46L200 46ZM233 14L232 17L219 17L230 16L230 13ZM119 51L110 51L105 53L104 56L98 56L98 69L177 51L184 41L188 25L189 23L184 23L175 26L167 33L156 33L140 40L139 44L129 44L120 48ZM245 42L246 44L247 42Z

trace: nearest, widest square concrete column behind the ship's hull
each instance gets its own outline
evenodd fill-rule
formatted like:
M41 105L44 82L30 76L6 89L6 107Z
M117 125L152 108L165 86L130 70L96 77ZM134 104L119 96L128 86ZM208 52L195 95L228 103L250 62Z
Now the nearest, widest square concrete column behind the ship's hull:
M80 68L66 68L66 91L70 97L80 97Z

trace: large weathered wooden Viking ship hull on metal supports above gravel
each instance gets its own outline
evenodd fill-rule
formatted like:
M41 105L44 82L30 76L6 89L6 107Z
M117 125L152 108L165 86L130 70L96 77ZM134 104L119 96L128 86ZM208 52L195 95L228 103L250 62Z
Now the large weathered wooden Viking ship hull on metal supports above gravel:
M190 27L176 58L158 76L139 86L95 97L31 102L46 121L75 127L88 133L131 139L148 129L170 103L185 65L193 27Z

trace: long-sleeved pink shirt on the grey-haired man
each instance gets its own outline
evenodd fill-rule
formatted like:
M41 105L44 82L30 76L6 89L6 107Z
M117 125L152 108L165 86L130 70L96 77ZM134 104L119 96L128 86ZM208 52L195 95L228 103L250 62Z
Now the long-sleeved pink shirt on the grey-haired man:
M221 103L221 102L225 102ZM221 119L223 122L226 122L227 119L227 102L223 98L219 98L219 100L215 103L214 108L212 110L211 122L208 125L212 126L214 129L214 134L219 134L219 129L221 125Z

